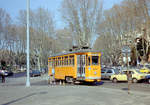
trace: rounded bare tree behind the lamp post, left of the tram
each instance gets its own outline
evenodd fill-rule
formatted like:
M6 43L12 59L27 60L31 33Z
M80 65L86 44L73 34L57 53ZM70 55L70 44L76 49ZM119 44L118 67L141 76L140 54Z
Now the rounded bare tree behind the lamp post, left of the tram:
M38 17L38 18L37 18ZM22 27L21 40L24 46L26 40L26 12L20 11L18 17L19 25ZM31 63L37 64L40 69L41 66L47 64L47 58L52 52L52 40L55 38L54 19L50 11L43 8L37 10L30 10L30 51Z

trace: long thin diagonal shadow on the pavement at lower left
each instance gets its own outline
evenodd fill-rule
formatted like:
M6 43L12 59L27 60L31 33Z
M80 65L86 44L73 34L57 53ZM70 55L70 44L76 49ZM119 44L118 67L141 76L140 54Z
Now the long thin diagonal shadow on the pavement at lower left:
M34 95L41 95L41 94L47 94L47 93L48 93L48 92L31 93L31 94L29 94L29 95L27 95L27 96L24 96L24 97L21 97L21 98L12 100L12 101L10 101L10 102L7 102L7 103L1 104L1 105L9 105L9 104L15 103L15 102L17 102L17 101L21 101L21 100L23 100L23 99L26 99L26 98L31 97L31 96L34 96Z

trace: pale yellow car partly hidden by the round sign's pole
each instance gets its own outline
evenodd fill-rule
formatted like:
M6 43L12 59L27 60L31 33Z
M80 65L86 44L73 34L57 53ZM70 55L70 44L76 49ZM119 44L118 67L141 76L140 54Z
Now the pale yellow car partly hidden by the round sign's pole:
M112 82L127 81L127 71L131 72L133 83L137 83L138 81L145 79L146 74L137 70L122 70L119 74L112 75L110 80L112 80Z

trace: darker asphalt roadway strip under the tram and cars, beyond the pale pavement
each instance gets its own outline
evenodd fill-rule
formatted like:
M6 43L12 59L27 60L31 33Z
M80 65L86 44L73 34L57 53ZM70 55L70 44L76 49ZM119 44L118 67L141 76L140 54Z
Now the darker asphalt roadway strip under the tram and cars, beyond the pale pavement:
M8 78L8 80L11 81L11 78L14 80L19 79L19 78L25 78L26 77L26 72L20 72L20 73L14 73L13 76L9 76L6 77L6 79ZM47 86L48 82L46 79L43 79L43 77L31 77L30 79L35 79L36 81L32 82L31 85L33 86ZM37 80L38 79L38 80ZM9 81L8 81L9 82ZM23 83L19 82L20 85L24 85ZM25 82L24 82L25 83ZM12 85L12 84L11 84ZM19 84L18 84L19 85ZM56 86L60 85L59 82L57 82ZM105 88L111 88L111 89L119 89L119 90L128 90L128 83L127 82L119 82L119 83L112 83L112 81L110 80L102 80L101 83L98 84L87 84L87 83L76 83L76 84L65 84L66 86L101 86L101 87L105 87ZM150 84L148 83L133 83L130 86L131 90L135 90L135 91L150 91Z

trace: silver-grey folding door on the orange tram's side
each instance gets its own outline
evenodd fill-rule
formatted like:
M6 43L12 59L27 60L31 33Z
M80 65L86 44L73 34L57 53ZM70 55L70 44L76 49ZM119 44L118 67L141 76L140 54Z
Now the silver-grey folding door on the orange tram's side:
M77 55L77 77L85 78L86 55Z

